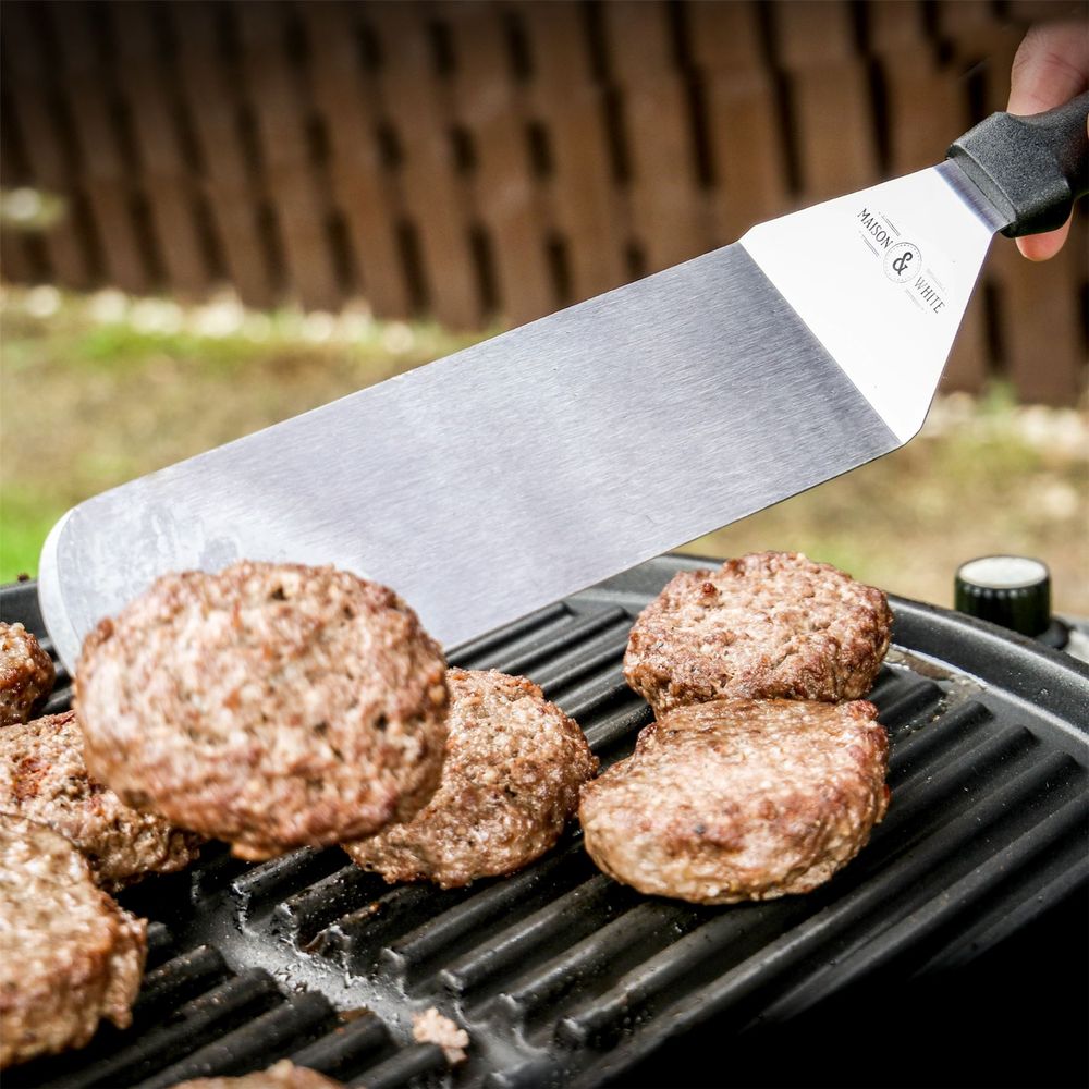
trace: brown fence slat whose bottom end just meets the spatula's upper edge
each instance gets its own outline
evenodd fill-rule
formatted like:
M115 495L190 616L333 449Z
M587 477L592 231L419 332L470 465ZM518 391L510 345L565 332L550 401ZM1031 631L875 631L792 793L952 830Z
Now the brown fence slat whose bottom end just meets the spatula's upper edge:
M403 154L405 216L415 228L431 313L455 329L485 318L469 244L465 186L454 171L449 88L428 50L423 4L368 9L382 52L379 86Z

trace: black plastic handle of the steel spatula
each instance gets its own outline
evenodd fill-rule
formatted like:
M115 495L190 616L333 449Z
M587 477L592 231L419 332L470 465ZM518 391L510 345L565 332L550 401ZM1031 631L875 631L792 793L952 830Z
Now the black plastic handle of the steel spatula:
M1089 91L1029 118L992 113L949 149L1006 218L1003 234L1053 231L1089 192L1087 114Z

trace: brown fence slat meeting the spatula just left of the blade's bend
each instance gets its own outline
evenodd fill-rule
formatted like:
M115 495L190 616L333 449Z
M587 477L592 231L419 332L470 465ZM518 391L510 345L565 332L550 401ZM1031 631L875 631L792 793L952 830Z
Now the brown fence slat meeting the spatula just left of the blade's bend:
M646 270L687 260L709 244L700 224L685 88L672 61L669 10L659 0L603 5L612 71L624 96L632 210ZM678 123L680 122L680 123Z

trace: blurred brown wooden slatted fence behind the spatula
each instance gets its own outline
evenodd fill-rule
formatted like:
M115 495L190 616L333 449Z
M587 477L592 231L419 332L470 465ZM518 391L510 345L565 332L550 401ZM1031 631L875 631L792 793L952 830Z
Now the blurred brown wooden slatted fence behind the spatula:
M1076 5L1075 5L1076 7ZM1069 2L27 2L2 184L61 195L4 276L510 325L931 164ZM1084 387L1084 217L1000 241L946 386Z

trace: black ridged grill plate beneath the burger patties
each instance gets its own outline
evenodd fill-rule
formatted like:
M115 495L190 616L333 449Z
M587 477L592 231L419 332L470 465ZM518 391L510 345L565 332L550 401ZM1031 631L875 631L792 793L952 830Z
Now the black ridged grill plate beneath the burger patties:
M608 766L651 718L621 672L632 620L675 571L699 565L644 564L450 659L533 677ZM4 587L0 601L4 619L41 632L33 584ZM869 698L892 742L892 805L817 892L724 907L641 896L594 867L577 829L513 877L445 892L386 885L338 848L253 865L210 845L189 871L121 897L151 920L132 1027L106 1026L78 1052L7 1072L5 1085L150 1089L282 1056L369 1089L687 1085L699 1080L693 1055L712 1048L732 1056L733 1084L791 1084L775 1080L788 1078L788 1056L769 1073L764 1043L751 1041L797 1043L830 1017L841 1035L848 1023L868 1031L874 994L883 1033L901 1031L897 1016L917 1028L939 1007L905 1010L890 994L933 1001L935 979L946 1006L954 995L993 1010L963 993L984 978L974 967L993 976L994 955L1026 935L1031 947L1000 972L1077 955L1089 671L968 617L891 604L894 645ZM68 706L66 682L61 673L50 713ZM1055 987L1077 977L1062 960L1049 972L1035 1004L1057 1016L1068 1007ZM438 1048L412 1041L411 1015L431 1005L472 1038L452 1073ZM974 1024L967 1006L958 1017L958 1031ZM1077 1040L1055 1049L1081 1051ZM819 1067L806 1070L820 1082ZM880 1081L862 1073L859 1084Z

